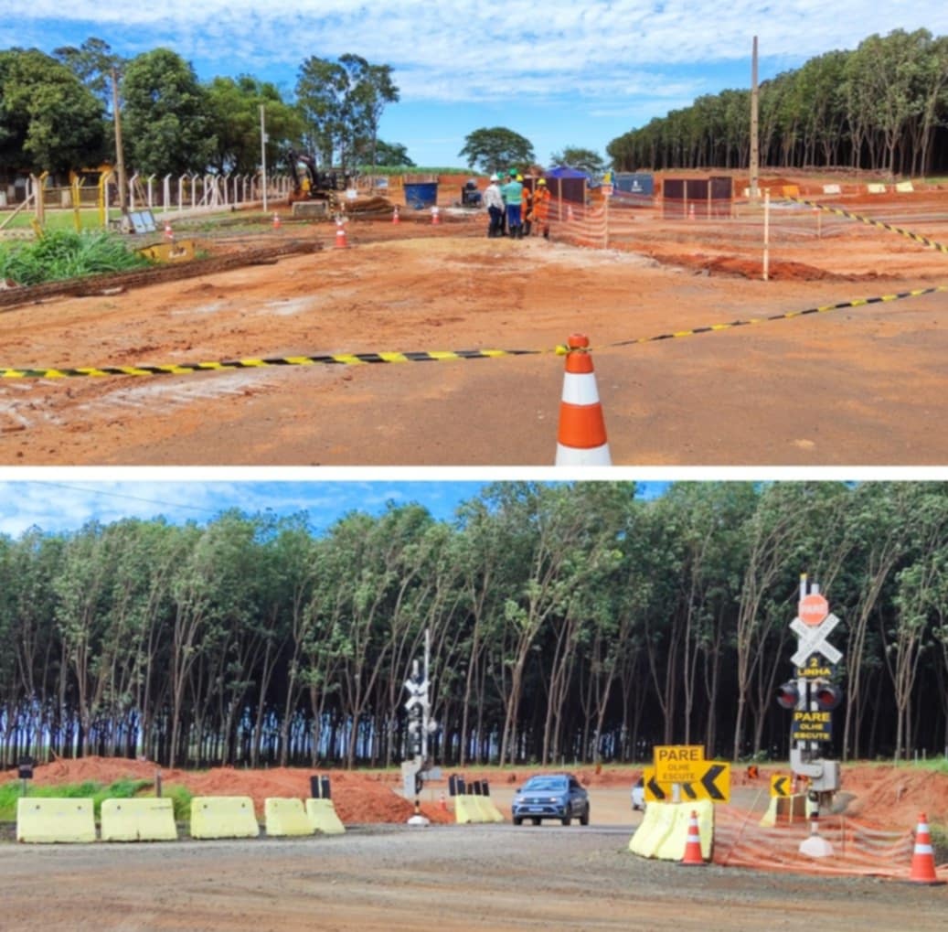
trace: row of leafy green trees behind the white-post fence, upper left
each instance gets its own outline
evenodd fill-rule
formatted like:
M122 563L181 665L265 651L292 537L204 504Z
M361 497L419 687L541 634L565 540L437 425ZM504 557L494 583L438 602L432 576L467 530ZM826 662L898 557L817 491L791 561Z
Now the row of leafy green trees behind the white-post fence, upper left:
M326 166L410 165L404 146L378 138L399 99L392 66L358 55L312 56L294 98L250 75L200 82L168 48L123 59L100 39L0 51L0 172L65 174L115 163L118 89L125 164L149 174L252 174L261 164L264 107L268 166L291 150Z

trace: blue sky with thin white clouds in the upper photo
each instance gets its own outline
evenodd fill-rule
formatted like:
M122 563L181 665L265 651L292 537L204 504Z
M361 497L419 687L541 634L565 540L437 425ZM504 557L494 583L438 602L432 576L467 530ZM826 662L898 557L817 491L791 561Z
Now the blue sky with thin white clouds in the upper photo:
M943 0L162 0L112 4L6 0L4 47L79 46L89 37L133 57L158 46L202 81L251 74L292 96L302 62L346 52L391 64L401 101L380 136L418 165L464 166L465 136L503 126L541 163L567 146L606 145L702 94L748 88L873 33L948 34Z

